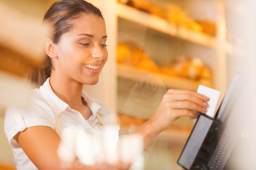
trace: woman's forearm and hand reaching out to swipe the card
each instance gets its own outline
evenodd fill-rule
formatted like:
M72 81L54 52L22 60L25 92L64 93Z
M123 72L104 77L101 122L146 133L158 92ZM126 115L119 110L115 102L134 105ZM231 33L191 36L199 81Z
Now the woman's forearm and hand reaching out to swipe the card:
M171 122L182 116L197 118L191 110L206 113L208 100L194 91L169 89L154 115L132 134L143 137L146 150L160 132L167 130Z

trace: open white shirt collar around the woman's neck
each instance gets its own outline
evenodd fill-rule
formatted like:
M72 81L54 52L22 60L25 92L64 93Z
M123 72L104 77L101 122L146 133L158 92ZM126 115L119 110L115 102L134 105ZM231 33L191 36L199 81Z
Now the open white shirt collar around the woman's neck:
M53 112L56 115L59 115L61 112L63 112L69 105L65 102L63 102L54 92L52 91L52 88L50 86L50 77L46 80L43 85L39 87L39 91L43 98L47 101L50 108L53 110ZM99 114L106 117L104 114L102 108L93 101L93 99L82 90L81 94L82 98L84 98L85 102L87 103L87 106L91 109L93 113L93 117L96 116L96 112L99 110ZM70 107L69 107L70 108Z

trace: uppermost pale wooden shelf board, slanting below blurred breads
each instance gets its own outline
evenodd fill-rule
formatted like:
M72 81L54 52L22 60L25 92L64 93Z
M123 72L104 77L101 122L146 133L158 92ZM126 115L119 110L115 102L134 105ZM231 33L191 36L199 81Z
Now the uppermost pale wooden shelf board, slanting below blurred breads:
M150 15L124 4L117 4L117 16L205 47L215 48L216 45L216 39L213 36L195 32L189 28L176 26L175 23L170 23L165 19Z

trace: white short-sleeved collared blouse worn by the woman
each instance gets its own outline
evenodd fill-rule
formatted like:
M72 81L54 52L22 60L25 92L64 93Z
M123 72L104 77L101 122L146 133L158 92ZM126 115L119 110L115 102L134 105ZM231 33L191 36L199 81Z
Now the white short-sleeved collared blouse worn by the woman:
M33 98L31 106L28 110L18 110L16 108L8 108L5 115L4 131L12 148L14 161L17 170L38 170L37 167L30 161L26 153L22 150L17 141L13 138L18 132L22 132L32 126L49 126L55 130L54 113L59 117L63 133L76 133L78 127L85 127L88 133L104 133L98 126L99 120L96 113L102 121L110 124L110 114L105 104L97 99L90 98L85 91L82 91L81 97L85 100L92 111L92 115L88 120L78 111L69 107L54 94L50 87L50 78L39 87L33 90ZM54 111L54 113L53 113Z

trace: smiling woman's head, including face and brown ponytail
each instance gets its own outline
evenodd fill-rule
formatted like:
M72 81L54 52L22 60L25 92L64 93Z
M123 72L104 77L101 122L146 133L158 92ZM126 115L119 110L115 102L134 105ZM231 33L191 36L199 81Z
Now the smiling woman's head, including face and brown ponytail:
M55 62L55 60L51 60L56 59L57 55L63 56L58 57L58 60L60 60L61 63L61 65L58 66L60 68L63 68L62 64L68 66L70 69L65 68L65 71L68 72L71 77L72 75L76 75L76 77L81 76L74 74L74 72L77 71L76 69L80 69L82 74L83 64L85 64L85 66L94 64L93 66L99 66L100 68L98 71L83 72L84 75L88 73L100 73L106 63L108 54L106 48L104 48L106 47L107 38L106 26L98 8L86 1L59 1L55 2L49 8L43 21L52 23L55 28L55 33L52 40L46 40L46 53L49 57L46 57L45 63L41 67L36 68L30 74L30 80L33 83L37 84L38 87L43 85L46 79L51 76L52 71L54 72L54 70L58 70L55 68L52 69L52 62ZM99 35L99 33L101 33L102 36ZM93 48L97 47L102 47L102 49L100 49L102 52L95 56L92 54L92 51ZM83 55L83 57L80 57L79 55ZM95 59L89 59L88 56L90 55L94 56ZM66 56L72 56L73 60L71 61L73 62L71 63ZM104 58L104 60L97 60L97 57ZM78 63L74 63L78 62L78 58L80 62L82 62L80 63L80 66L77 65ZM87 69L83 69L83 71L85 70ZM96 79L93 82L97 83L98 75L95 75L95 77ZM80 77L80 80L83 78L83 76ZM83 80L85 81L87 79ZM91 84L84 81L81 81L81 83Z

